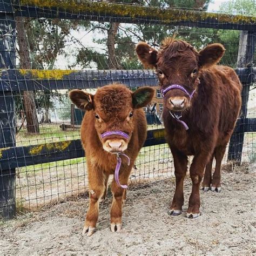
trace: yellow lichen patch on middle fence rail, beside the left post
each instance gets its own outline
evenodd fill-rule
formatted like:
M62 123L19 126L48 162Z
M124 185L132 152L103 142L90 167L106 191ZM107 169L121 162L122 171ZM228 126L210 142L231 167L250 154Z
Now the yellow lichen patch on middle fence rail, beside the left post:
M70 75L74 73L74 70L60 70L60 69L53 69L53 70L39 70L39 69L19 69L19 73L21 75L31 75L32 79L54 79L54 80L61 80L64 76Z

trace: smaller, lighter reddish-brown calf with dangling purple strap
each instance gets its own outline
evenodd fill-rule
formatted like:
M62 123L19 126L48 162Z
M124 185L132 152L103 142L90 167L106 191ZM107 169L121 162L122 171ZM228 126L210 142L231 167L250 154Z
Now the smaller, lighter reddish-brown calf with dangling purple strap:
M87 110L82 122L81 139L87 159L90 205L83 234L93 234L98 220L99 201L106 196L109 176L117 169L117 163L120 165L123 160L118 166L120 183L117 171L116 179L111 184L113 201L110 214L111 231L120 231L122 227L125 185L146 139L147 123L142 107L151 102L153 93L151 87L141 87L131 92L120 84L104 86L95 95L81 90L70 92L72 102L80 109Z

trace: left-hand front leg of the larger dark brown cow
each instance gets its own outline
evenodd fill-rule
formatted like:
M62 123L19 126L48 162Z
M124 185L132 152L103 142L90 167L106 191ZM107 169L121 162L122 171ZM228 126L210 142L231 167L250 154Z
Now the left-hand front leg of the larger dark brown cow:
M185 154L172 149L174 160L174 174L176 178L176 189L173 196L169 214L177 216L182 212L184 204L183 184L187 171L187 156Z

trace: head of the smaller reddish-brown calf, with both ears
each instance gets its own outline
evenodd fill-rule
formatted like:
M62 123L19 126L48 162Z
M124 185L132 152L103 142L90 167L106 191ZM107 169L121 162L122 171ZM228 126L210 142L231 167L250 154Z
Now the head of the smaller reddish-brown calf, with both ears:
M82 90L70 92L72 102L82 110L92 111L94 125L103 149L110 153L123 152L134 129L133 112L149 104L154 95L151 87L140 87L131 92L125 85L107 85L97 90L95 95ZM120 131L129 136L112 134ZM110 132L104 137L102 134Z

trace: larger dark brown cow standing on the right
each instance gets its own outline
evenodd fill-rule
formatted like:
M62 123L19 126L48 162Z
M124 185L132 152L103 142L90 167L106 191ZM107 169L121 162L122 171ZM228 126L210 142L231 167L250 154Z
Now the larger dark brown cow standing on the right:
M140 42L137 55L145 66L156 68L164 95L163 119L176 176L171 215L179 215L184 203L183 181L187 156L192 193L187 217L200 215L199 186L220 192L220 168L226 145L241 106L241 83L233 69L215 65L224 55L221 44L197 51L190 44L166 38L159 51ZM212 177L212 161L216 159ZM205 170L205 175L204 175Z

